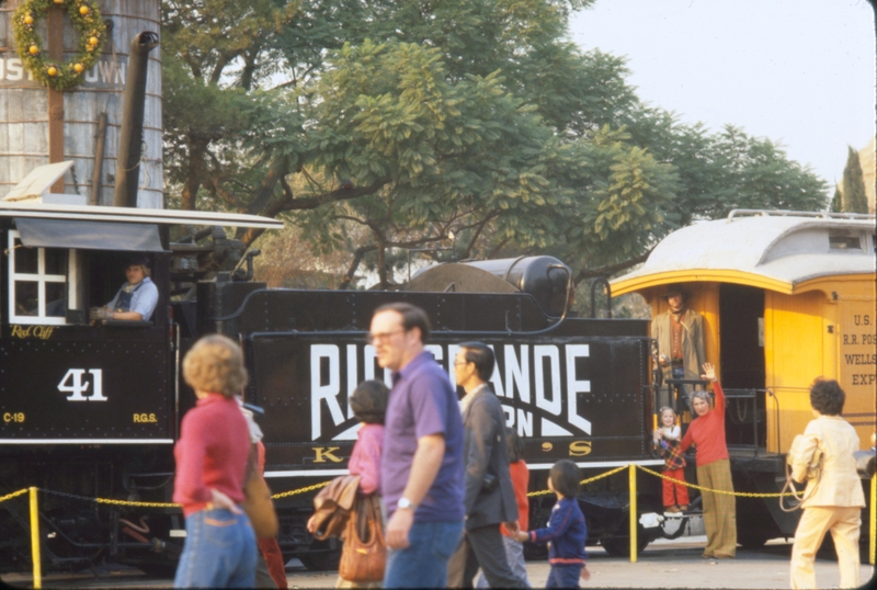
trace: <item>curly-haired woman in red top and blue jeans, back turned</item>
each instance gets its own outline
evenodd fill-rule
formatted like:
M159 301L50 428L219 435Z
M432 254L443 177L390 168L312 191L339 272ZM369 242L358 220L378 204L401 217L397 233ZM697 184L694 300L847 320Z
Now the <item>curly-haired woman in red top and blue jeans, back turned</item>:
M252 588L257 545L243 501L250 430L235 395L247 383L240 348L213 334L183 360L197 404L183 418L173 450L173 501L183 506L185 545L175 588Z

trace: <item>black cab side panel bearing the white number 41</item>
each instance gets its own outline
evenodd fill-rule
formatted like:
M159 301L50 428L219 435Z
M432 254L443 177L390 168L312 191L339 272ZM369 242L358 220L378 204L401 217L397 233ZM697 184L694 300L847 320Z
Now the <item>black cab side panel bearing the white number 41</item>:
M0 444L173 442L167 347L146 331L105 341L73 336L90 329L0 340Z

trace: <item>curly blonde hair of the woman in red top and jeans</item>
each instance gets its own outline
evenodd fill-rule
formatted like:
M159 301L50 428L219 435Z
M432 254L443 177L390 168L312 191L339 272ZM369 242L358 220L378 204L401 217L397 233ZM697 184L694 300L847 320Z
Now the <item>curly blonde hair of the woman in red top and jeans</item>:
M230 398L241 393L249 375L240 347L230 338L210 334L195 342L186 353L183 378L193 389Z

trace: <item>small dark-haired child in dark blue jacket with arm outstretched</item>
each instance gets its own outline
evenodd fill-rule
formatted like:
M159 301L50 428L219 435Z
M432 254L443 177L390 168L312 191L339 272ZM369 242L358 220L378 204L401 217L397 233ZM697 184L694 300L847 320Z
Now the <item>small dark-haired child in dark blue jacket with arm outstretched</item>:
M584 560L584 541L588 526L579 508L579 467L569 459L561 459L548 472L548 489L557 495L557 503L551 509L551 518L546 529L521 531L515 535L520 542L549 543L548 561L551 572L546 588L579 588L579 576L591 579Z

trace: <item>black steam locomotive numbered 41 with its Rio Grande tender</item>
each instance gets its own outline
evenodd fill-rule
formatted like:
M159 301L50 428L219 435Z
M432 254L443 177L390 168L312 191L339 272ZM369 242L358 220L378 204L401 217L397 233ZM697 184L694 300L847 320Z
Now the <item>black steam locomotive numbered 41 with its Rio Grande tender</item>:
M207 226L170 241L169 226ZM102 560L172 566L179 509L95 503L170 502L172 449L194 405L180 363L200 336L238 340L264 409L265 476L275 492L345 473L357 423L348 396L389 375L363 336L373 310L407 300L428 311L429 349L453 372L456 347L492 345L492 387L524 438L532 488L572 458L585 476L652 455L648 324L570 317L570 271L548 257L441 264L401 291L271 290L252 281L252 254L215 226L277 227L252 216L0 203L0 496L37 486L44 566ZM213 227L212 227L213 226ZM149 321L89 321L124 282L126 254L150 258L160 299ZM320 568L338 546L305 530L314 492L276 502L284 554ZM553 499L532 499L532 521ZM628 551L628 474L580 498L591 542ZM660 511L660 481L640 476L638 514ZM30 567L25 502L0 503L0 569ZM659 536L640 525L640 545Z

